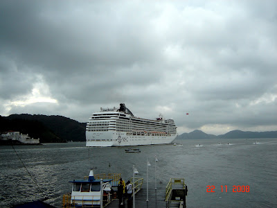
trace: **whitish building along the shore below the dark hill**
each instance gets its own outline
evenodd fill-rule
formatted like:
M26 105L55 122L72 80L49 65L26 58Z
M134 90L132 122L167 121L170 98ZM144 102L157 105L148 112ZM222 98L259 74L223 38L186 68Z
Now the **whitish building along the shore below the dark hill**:
M39 144L39 139L30 138L27 135L20 134L20 132L8 131L2 132L0 139L3 141L14 140L20 141L22 144Z

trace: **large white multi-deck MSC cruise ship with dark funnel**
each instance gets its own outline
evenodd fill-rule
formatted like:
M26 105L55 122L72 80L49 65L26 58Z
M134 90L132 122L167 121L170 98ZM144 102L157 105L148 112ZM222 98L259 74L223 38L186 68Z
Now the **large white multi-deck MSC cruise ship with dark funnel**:
M141 119L125 107L102 108L91 115L86 127L86 146L137 146L170 144L177 137L173 119Z

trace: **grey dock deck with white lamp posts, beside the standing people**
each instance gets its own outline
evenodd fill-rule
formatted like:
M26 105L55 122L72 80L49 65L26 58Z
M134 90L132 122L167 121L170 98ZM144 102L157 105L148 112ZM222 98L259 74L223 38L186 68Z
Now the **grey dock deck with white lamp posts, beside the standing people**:
M147 199L147 184L146 182L143 183L142 189L136 193L135 196L135 207L136 208L159 208L159 207L167 207L166 206L166 185L167 183L164 182L160 184L157 182L157 190L155 190L154 182L148 182L148 202ZM114 207L133 207L133 201L131 201L128 205L127 200L125 200L125 205L119 205L118 199L112 201L107 208L114 208Z

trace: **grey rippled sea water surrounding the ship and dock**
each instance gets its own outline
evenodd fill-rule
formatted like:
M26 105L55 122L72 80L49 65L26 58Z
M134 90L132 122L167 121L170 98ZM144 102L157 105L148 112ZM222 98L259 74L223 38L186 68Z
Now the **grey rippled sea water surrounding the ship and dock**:
M125 153L126 147L87 148L85 142L15 150L0 146L0 207L42 198L62 207L62 195L71 191L69 181L89 175L91 167L97 167L95 173L121 173L126 181L134 164L138 177L146 179L149 159L149 180L154 182L155 157L158 182L185 178L187 207L277 207L277 139L175 142L177 146L136 147L141 153ZM234 186L248 186L249 192L233 192Z

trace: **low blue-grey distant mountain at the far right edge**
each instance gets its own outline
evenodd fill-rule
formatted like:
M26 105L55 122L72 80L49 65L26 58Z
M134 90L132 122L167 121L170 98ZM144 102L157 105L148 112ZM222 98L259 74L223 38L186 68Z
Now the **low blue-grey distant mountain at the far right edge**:
M277 138L277 131L271 132L243 132L241 130L233 130L225 135L218 135L220 139L251 139L251 138Z

